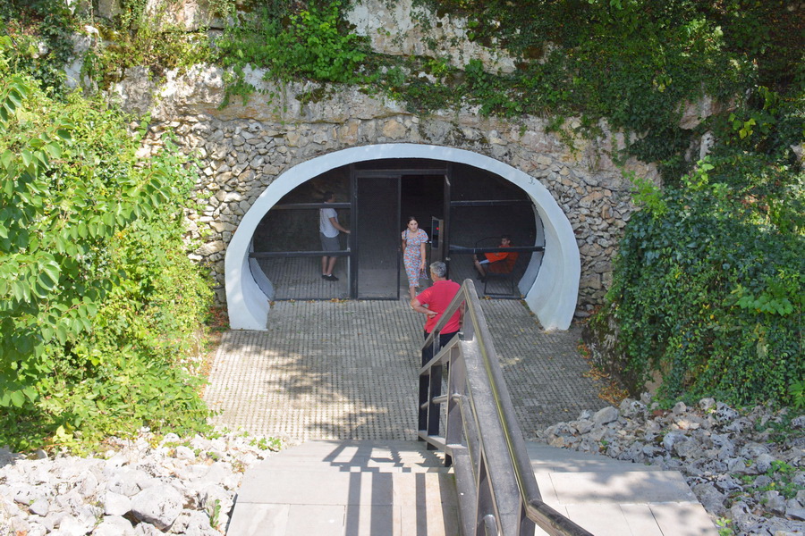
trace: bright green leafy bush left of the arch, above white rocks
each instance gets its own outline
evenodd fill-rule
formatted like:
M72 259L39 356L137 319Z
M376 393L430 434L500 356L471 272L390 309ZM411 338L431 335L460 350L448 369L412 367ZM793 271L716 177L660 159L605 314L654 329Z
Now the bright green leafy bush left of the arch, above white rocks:
M0 39L0 444L201 429L184 363L210 291L183 255L194 184L100 100L46 96Z

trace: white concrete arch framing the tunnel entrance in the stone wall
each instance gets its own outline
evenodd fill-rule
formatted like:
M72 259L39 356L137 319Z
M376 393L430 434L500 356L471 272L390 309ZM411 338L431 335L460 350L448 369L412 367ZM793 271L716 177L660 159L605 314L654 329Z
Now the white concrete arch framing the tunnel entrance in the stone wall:
M426 158L465 163L495 173L522 188L531 198L545 228L545 255L525 301L547 330L570 327L579 295L581 263L571 223L554 197L527 173L485 155L451 147L382 144L351 147L318 156L284 172L251 206L226 248L226 306L234 330L266 330L269 304L250 270L251 239L258 223L288 192L321 173L350 163L382 158Z

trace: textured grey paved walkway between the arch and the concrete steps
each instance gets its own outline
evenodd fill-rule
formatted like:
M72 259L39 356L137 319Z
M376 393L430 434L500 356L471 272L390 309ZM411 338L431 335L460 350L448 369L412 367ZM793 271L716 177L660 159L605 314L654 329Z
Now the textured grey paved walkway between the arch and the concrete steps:
M546 333L518 300L482 300L525 437L598 409L580 329ZM416 438L424 317L399 301L277 302L268 331L228 331L205 398L230 429L301 440Z

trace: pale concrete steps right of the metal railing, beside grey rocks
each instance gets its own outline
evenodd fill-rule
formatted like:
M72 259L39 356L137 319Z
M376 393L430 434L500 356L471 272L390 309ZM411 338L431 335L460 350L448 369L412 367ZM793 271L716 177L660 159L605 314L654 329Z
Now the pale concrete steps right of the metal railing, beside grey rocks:
M527 448L542 499L596 536L718 534L678 471L533 442Z

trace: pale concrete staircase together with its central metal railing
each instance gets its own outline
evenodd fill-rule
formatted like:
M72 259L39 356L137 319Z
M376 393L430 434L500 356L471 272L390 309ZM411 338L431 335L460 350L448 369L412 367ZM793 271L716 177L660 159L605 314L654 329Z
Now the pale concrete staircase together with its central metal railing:
M284 450L244 476L230 536L717 536L680 473L523 440L471 280L422 350L423 442Z

